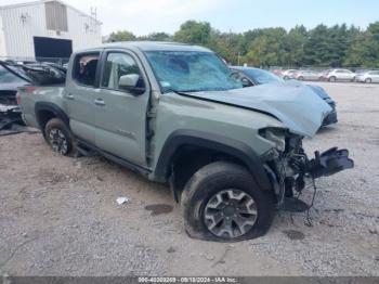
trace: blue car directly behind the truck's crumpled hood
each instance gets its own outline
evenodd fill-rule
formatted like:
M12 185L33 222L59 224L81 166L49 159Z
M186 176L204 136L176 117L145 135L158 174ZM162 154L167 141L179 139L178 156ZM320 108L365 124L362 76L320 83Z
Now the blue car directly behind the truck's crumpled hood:
M262 83L286 82L271 72L259 68L232 66L231 69L234 72L234 77L243 81L244 87L251 87ZM324 118L322 126L337 124L338 119L336 102L328 95L324 88L314 85L306 85L306 87L314 91L319 98L324 100L324 102L326 102L331 107L329 114Z

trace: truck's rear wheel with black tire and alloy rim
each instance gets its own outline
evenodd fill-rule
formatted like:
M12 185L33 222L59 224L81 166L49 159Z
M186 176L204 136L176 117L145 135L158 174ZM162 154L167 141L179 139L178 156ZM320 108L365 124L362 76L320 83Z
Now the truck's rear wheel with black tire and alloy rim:
M44 127L44 139L53 152L76 156L76 143L71 131L60 118L52 118Z

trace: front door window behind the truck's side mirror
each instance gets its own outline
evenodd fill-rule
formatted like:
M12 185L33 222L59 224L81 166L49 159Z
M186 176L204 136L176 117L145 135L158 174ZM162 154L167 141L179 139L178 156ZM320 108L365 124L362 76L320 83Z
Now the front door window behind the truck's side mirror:
M102 87L117 91L126 91L126 89L119 86L119 80L121 76L132 74L140 75L136 87L144 88L140 68L132 56L120 52L108 53L103 70Z

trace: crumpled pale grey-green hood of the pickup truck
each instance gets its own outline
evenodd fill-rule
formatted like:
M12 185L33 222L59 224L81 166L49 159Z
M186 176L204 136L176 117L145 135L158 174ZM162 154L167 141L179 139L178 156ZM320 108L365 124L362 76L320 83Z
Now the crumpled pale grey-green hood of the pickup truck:
M191 96L223 102L269 113L292 133L313 137L331 107L302 83L266 83L228 91L191 93Z

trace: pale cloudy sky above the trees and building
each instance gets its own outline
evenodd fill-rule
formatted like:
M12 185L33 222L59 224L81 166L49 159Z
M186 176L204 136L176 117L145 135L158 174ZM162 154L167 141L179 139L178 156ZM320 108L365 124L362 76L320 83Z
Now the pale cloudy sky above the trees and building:
M2 4L32 0L0 0ZM311 28L347 23L365 28L379 21L377 0L64 0L90 13L97 9L103 35L128 29L135 35L153 31L174 33L187 20L207 21L222 31L245 31L257 27Z

